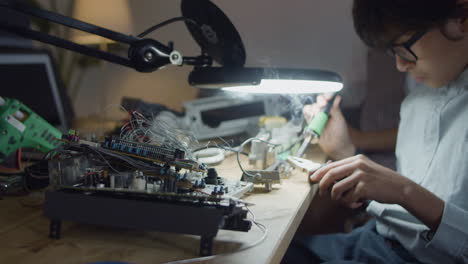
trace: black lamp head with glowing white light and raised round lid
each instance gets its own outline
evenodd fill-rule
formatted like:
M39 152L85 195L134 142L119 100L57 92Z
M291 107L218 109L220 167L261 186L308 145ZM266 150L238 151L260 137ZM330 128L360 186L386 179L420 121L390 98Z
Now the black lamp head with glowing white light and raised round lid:
M186 26L202 52L222 67L195 67L189 84L198 88L262 94L337 92L341 77L330 71L246 68L241 37L228 17L209 0L182 0L182 15L195 21Z

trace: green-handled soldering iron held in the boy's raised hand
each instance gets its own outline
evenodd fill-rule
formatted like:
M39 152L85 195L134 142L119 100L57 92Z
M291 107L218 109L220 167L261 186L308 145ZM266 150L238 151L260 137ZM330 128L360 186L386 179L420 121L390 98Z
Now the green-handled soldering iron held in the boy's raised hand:
M320 136L322 135L323 129L325 129L328 119L330 118L330 110L337 95L338 93L334 93L332 98L327 102L325 108L319 113L317 113L312 119L312 121L304 128L304 142L302 142L301 147L297 151L296 157L302 157L312 139L320 138Z

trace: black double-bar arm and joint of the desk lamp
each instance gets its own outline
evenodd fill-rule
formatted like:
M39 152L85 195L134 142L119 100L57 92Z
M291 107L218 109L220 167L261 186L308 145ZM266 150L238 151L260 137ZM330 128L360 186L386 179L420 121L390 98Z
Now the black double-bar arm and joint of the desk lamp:
M104 52L95 48L90 48L85 45L62 39L56 36L49 35L44 32L32 30L25 27L20 27L8 22L0 23L0 29L20 35L22 37L37 40L53 46L75 51L87 56L99 58L111 63L119 64L129 68L133 68L139 72L153 72L166 65L182 65L192 63L200 63L196 66L211 65L211 58L207 56L197 57L199 59L182 57L182 55L174 51L172 47L163 45L153 39L142 39L130 35L125 35L103 27L99 27L90 23L86 23L71 17L63 16L54 12L32 7L30 5L20 3L13 0L0 0L0 7L13 10L18 13L29 16L38 17L47 21L51 21L66 27L74 28L90 34L98 35L116 42L128 44L128 58L121 57L109 52ZM175 59L176 58L176 59Z

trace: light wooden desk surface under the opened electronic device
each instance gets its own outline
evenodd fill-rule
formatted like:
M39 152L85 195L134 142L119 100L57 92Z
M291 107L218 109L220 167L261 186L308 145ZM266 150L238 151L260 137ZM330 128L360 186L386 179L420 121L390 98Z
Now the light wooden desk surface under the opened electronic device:
M323 161L317 149L308 157ZM234 158L217 167L222 177L240 177ZM295 170L291 178L265 193L256 189L245 200L250 210L268 228L260 245L210 263L279 263L312 198L315 187L304 172ZM65 222L62 238L48 238L49 221L42 216L41 193L0 200L0 263L91 263L124 261L135 264L163 263L197 257L199 237L160 232L118 229ZM257 241L262 235L255 225L247 232L220 230L214 253L229 253Z

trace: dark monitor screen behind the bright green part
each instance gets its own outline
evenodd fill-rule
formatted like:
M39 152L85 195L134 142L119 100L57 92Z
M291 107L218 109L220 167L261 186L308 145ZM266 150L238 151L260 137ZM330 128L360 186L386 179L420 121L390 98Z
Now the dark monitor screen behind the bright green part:
M0 96L14 98L65 132L72 106L50 53L0 49Z

